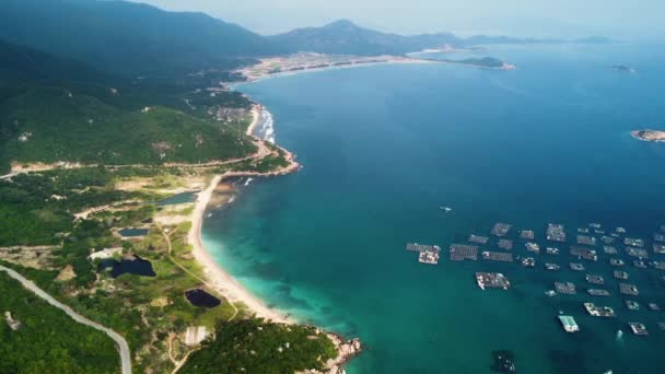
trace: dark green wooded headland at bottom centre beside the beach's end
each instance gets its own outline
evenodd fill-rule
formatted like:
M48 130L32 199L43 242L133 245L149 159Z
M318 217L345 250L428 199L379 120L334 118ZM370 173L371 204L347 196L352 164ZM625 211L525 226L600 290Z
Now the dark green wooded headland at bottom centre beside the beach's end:
M332 342L307 326L244 319L222 324L215 335L190 355L183 373L295 373L323 370L337 357Z

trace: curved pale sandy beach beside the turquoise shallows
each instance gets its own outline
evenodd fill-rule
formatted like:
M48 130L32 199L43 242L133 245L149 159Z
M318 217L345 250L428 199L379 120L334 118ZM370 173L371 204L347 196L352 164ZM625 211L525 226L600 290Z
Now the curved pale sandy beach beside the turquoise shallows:
M202 190L197 198L192 212L191 229L189 230L188 241L194 247L192 254L196 260L203 267L203 272L214 289L229 299L232 303L243 303L257 317L271 319L277 323L291 324L293 319L269 308L259 299L250 294L222 267L220 267L203 247L201 242L201 227L206 207L212 197L214 188L226 175L218 175L212 178L210 185Z

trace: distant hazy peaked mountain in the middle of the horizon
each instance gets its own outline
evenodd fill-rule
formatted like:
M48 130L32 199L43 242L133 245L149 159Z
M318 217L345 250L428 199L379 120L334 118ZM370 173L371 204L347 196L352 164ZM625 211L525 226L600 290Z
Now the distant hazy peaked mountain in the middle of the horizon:
M364 28L347 20L336 21L322 27L298 28L268 38L290 52L314 51L360 56L402 55L459 42L453 34L404 36Z

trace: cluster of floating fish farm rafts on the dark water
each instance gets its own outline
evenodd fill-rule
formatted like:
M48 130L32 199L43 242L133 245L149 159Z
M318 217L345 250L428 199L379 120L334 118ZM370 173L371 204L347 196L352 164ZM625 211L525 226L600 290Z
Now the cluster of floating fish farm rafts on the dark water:
M568 235L565 225L560 223L547 224L539 234L537 230L513 230L513 224L498 222L489 232L479 230L458 236L456 243L448 244L448 258L451 262L470 261L465 267L477 268L476 283L481 290L512 291L526 285L521 284L524 282L541 282L538 279L549 274L549 282L541 282L545 296L540 293L540 297L568 299L561 299L568 308L565 315L561 309L557 315L565 331L580 331L582 327L575 318L582 318L584 325L583 316L588 315L615 320L617 331L628 326L633 335L646 336L649 322L665 335L665 315L657 314L662 313L656 303L660 296L654 295L655 291L662 294L665 290L665 225L658 226L653 236L642 237L626 236L625 227L604 227L600 223L574 227L572 232ZM419 262L440 265L438 245L409 243L406 249L417 252ZM536 268L536 264L542 265ZM511 283L508 277L518 271L538 276L521 276L516 284ZM538 279L532 280L533 277ZM582 283L575 284L578 281ZM552 283L553 289L548 289L547 284ZM648 289L645 293L642 288ZM608 305L598 306L591 300L603 300ZM571 307L575 304L578 308Z

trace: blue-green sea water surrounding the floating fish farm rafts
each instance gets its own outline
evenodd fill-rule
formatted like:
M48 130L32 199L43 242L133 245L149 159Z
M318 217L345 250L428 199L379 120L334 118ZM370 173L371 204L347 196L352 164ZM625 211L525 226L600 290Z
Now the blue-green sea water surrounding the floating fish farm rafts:
M587 271L569 269L578 261L569 248L578 227L598 222L644 238L649 260L658 258L651 245L665 224L665 143L629 132L665 129L665 48L492 46L475 55L517 70L390 65L240 86L271 112L277 142L304 168L242 187L206 220L206 246L270 306L362 339L349 373L491 373L494 350L513 351L518 373L664 373L656 323L665 312L646 304L665 309L665 271L633 267L616 245L640 289L623 296L600 244L597 262L580 261ZM536 231L545 248L547 224L561 223L568 243L559 256L536 255L530 269L447 258L452 243L489 236L495 222L513 225L515 256L527 254L518 230ZM419 264L408 242L440 245L440 264ZM498 250L495 242L482 247ZM561 271L546 271L546 261ZM476 271L501 271L513 287L481 291ZM586 273L604 276L595 288L611 296L590 296ZM578 294L545 295L558 280ZM629 299L641 311L628 311ZM586 301L618 317L588 316ZM560 312L581 331L564 332ZM644 323L649 337L633 336L628 322Z

